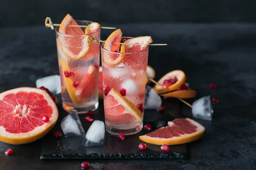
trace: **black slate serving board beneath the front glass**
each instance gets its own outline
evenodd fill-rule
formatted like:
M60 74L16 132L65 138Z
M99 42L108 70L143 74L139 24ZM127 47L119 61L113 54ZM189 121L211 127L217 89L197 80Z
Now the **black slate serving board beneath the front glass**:
M60 98L58 96L58 99ZM157 121L164 120L167 122L181 117L177 99L163 100L163 105L166 107L165 112L144 111L144 125L150 123L152 130L155 130ZM149 132L145 129L135 135L125 136L124 141L106 132L106 142L101 147L85 147L83 145L84 137L55 137L55 131L62 132L60 123L68 114L63 110L61 104L58 105L58 110L59 117L55 127L44 137L41 159L184 159L189 156L186 144L170 146L169 152L164 152L160 146L153 144L146 144L147 148L140 150L138 145L142 141L140 141L139 136ZM92 123L85 122L85 116L87 114L80 114L79 118L86 132ZM99 108L94 111L93 119L104 121L103 100L101 99L99 100Z

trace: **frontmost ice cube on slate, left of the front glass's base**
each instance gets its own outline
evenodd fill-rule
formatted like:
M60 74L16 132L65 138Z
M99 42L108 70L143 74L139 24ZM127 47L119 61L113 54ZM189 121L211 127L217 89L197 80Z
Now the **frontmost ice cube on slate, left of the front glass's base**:
M85 146L102 146L105 143L104 122L95 120L85 136Z

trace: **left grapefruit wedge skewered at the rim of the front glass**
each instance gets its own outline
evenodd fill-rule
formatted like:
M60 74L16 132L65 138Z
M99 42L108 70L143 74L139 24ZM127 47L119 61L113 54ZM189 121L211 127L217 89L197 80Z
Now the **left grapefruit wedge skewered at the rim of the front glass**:
M120 42L122 37L122 31L120 29L117 29L116 31L113 31L112 34L107 38L104 48L108 51L119 51L120 44L114 44L113 42ZM106 62L108 65L119 65L122 62L123 55L120 55L118 53L107 53L102 54L104 57L104 62Z

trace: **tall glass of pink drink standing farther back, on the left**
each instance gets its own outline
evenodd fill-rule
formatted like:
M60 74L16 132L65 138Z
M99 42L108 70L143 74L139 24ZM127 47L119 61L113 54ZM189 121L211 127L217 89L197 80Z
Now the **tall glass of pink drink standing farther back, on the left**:
M83 26L93 23L85 20L76 22ZM99 42L88 43L88 36L100 39L100 29L84 35L61 34L59 27L55 32L64 110L78 113L96 110L99 105Z

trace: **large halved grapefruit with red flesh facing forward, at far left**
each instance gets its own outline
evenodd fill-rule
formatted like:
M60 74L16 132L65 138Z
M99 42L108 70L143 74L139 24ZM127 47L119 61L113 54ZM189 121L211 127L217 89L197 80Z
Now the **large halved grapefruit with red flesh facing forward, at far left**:
M43 122L44 116L49 122ZM39 88L15 88L0 94L0 141L26 144L45 136L58 119L51 96Z

